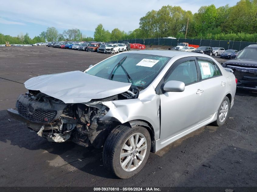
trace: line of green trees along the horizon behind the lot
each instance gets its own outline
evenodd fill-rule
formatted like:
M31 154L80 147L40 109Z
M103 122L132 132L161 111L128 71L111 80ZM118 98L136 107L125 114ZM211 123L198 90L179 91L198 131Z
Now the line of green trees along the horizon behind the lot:
M187 25L188 23L188 25ZM187 35L186 35L187 29ZM0 33L0 44L31 44L47 41L117 41L125 39L148 39L172 36L175 38L235 40L257 42L257 0L240 0L234 6L201 6L196 13L180 6L162 6L151 10L139 19L139 28L124 32L118 28L111 32L102 23L96 26L94 38L81 34L79 29L64 30L48 27L45 32L30 39L28 33L17 37Z

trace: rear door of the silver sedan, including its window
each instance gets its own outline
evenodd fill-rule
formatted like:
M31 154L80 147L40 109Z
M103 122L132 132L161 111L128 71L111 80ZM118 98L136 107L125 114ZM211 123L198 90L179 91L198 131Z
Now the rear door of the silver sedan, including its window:
M227 80L222 76L220 69L212 59L198 57L197 64L200 71L201 90L203 91L199 106L199 123L202 123L210 119L220 106L226 93Z

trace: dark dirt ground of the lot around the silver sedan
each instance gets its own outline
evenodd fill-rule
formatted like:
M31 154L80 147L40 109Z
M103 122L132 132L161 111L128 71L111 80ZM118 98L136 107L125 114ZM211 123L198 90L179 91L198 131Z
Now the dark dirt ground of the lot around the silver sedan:
M48 47L3 47L0 77L24 83L33 76L82 71L109 56ZM11 119L6 109L15 107L19 94L26 92L23 84L0 79L0 90L0 187L257 186L257 93L237 90L223 126L205 126L151 153L140 173L122 180L105 170L101 150L72 142L49 143Z

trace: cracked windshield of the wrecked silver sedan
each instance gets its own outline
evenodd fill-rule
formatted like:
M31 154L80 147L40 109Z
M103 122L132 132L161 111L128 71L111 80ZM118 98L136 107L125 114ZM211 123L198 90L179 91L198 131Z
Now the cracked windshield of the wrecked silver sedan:
M112 76L113 81L128 83L127 75L122 67L116 66L124 57L126 58L121 65L133 79L133 85L143 88L146 88L155 79L170 60L170 57L164 56L123 53L100 62L89 69L87 73L104 79L110 79Z

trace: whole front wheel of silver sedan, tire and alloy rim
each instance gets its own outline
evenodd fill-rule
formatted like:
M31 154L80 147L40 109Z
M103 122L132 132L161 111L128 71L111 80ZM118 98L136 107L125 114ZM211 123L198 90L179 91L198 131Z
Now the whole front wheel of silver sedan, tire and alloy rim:
M132 177L144 167L150 148L150 134L144 127L116 126L103 147L104 166L122 179Z

